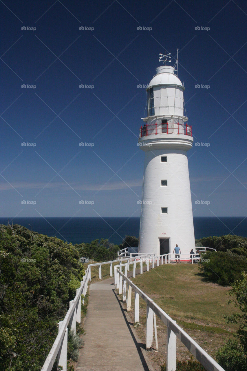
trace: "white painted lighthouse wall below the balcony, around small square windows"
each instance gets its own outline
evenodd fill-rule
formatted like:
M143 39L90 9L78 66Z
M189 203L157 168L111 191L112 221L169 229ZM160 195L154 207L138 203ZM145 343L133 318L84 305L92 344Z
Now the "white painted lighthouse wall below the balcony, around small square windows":
M168 207L168 214L161 214L161 207ZM139 252L158 254L159 238L170 238L171 253L176 244L181 253L195 247L188 160L183 150L145 147Z

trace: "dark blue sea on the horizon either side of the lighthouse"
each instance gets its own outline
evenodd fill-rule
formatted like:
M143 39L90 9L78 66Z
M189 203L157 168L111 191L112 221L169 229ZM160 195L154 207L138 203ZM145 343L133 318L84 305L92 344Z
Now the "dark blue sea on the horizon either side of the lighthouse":
M247 237L247 217L194 217L195 238L236 234ZM139 217L102 218L0 218L0 224L20 224L38 233L75 243L109 239L122 243L125 235L139 236Z

